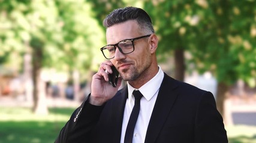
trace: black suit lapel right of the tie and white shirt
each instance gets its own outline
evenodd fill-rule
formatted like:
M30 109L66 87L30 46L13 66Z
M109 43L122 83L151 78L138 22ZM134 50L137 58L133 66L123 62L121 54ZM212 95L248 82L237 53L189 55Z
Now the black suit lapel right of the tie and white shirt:
M158 97L156 98L155 107L153 108L152 115L147 127L145 142L155 142L162 129L162 126L167 119L168 114L173 107L177 98L177 93L174 89L177 88L176 80L164 75L162 84L160 86Z

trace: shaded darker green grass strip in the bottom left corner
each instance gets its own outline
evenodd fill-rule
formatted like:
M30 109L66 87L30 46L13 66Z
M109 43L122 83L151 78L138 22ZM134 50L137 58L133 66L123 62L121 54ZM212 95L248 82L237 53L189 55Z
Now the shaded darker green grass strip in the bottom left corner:
M0 142L54 142L64 122L1 122Z

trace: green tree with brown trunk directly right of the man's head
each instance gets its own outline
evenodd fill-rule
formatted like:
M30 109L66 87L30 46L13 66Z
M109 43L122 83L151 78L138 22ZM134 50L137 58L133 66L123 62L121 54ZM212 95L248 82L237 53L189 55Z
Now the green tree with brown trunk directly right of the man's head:
M212 17L208 5L198 1L145 1L144 8L152 15L159 35L158 55L174 54L174 77L184 80L185 51L200 48L200 35L207 32L207 22ZM189 70L189 69L187 69Z

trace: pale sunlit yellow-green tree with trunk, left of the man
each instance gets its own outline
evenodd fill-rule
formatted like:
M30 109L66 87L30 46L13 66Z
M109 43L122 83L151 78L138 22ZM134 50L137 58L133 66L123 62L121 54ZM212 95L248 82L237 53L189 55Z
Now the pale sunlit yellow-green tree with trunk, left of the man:
M0 57L32 55L34 111L47 112L42 69L86 73L103 59L103 30L85 1L0 1L0 14Z

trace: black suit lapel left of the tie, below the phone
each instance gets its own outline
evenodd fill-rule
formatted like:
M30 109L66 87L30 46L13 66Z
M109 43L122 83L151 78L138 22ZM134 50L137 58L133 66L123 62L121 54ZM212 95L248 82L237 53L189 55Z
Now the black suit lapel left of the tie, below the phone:
M128 88L127 86L125 86L125 88L121 89L121 91L117 95L115 95L115 98L113 98L112 111L115 111L115 113L112 114L112 123L115 124L115 126L113 126L113 128L115 128L115 132L113 134L115 135L115 137L113 138L113 142L120 142L121 139L124 108L127 97Z

